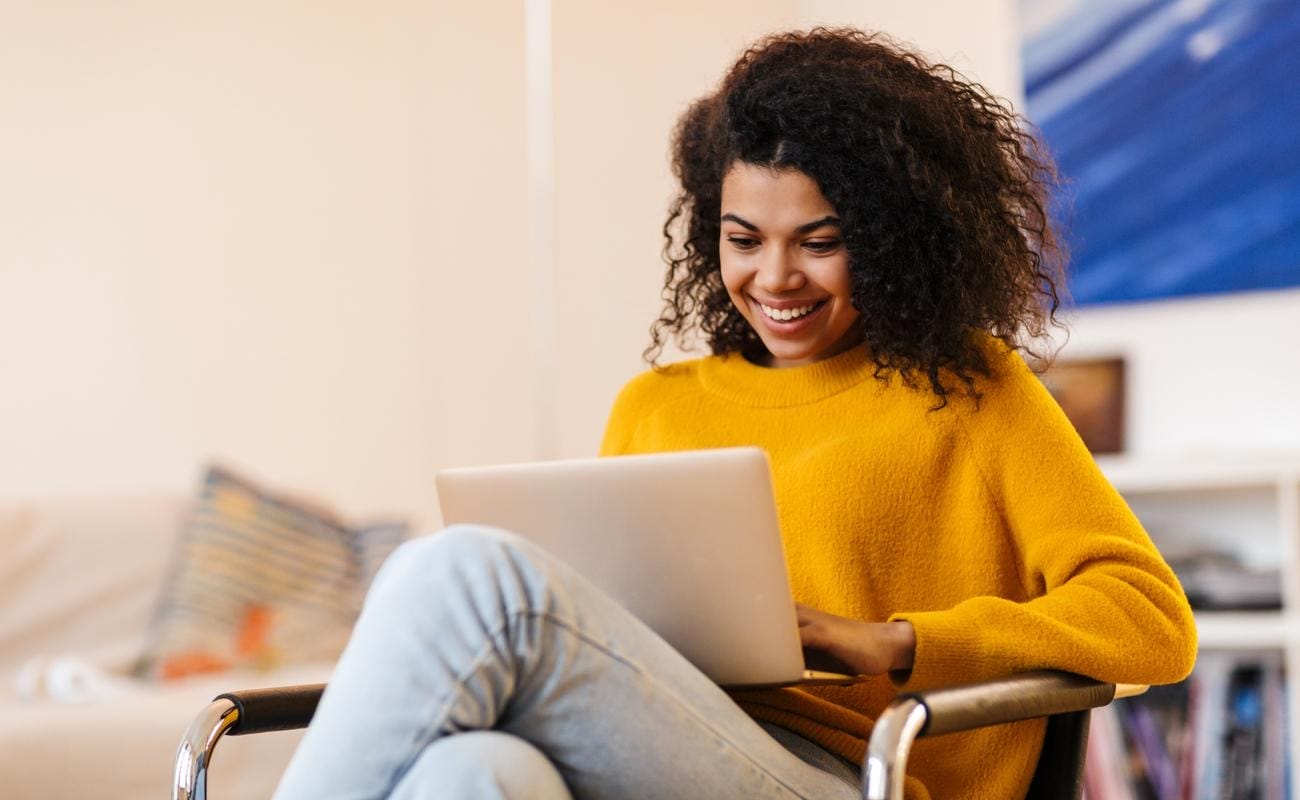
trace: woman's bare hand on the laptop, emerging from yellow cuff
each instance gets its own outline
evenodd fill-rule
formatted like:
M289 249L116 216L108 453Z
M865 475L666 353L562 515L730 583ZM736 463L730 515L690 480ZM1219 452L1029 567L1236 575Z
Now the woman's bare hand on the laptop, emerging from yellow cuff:
M803 647L826 650L862 675L910 670L916 633L910 622L861 622L794 604Z

